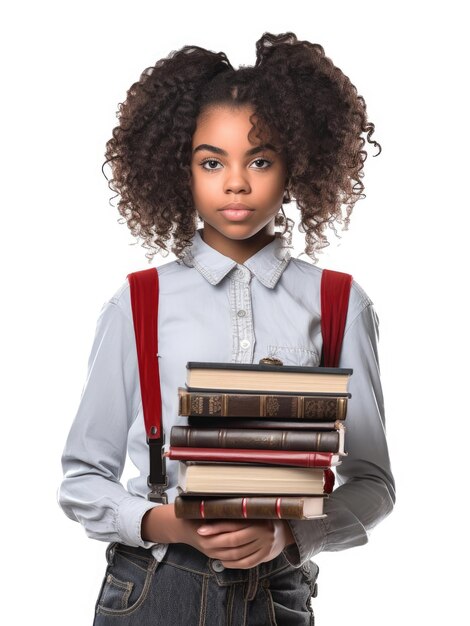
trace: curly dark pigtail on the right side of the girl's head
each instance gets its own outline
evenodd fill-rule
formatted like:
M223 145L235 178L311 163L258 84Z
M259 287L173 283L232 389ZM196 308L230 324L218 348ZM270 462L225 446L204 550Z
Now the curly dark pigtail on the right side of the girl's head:
M335 233L335 222L348 228L354 204L364 197L364 145L381 150L372 139L374 125L356 87L319 44L299 41L291 32L265 33L256 43L255 67L265 89L271 85L264 115L283 120L277 131L286 146L288 191L312 254L328 245L326 226Z

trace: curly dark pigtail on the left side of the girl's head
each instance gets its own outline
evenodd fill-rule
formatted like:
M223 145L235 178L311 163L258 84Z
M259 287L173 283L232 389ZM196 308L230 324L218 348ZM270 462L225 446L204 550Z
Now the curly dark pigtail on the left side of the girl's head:
M190 192L191 142L201 93L233 68L223 52L184 46L145 69L119 105L119 125L106 144L118 210L149 261L178 230L179 254L195 234ZM117 197L115 196L115 197ZM154 245L156 244L156 246Z

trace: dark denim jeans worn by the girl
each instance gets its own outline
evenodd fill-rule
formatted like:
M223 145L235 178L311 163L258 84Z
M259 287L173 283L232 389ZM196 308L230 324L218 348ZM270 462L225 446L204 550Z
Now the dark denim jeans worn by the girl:
M119 543L108 567L94 626L307 626L314 624L318 566L299 568L281 552L251 569L224 568L186 544L170 544L161 563L150 550Z

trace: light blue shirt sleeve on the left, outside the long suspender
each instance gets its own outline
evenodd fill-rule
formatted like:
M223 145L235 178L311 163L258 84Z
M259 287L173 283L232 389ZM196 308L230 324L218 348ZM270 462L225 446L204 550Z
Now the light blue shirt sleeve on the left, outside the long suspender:
M140 529L155 504L131 495L119 482L128 430L140 404L134 328L111 299L98 318L88 375L62 455L58 501L89 537L149 548L155 544L143 541Z

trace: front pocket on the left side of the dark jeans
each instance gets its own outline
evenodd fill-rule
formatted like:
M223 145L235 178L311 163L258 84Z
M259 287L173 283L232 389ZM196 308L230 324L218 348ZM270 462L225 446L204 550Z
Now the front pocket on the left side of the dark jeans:
M157 562L134 548L110 544L106 551L108 567L96 604L104 615L129 615L144 603Z

